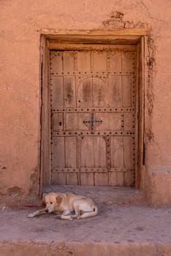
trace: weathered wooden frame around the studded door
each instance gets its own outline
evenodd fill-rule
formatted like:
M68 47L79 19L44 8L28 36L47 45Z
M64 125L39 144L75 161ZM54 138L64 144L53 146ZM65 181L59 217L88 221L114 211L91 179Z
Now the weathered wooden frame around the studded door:
M41 85L41 141L40 141L40 184L50 185L50 50L90 49L91 45L111 45L115 48L137 48L136 67L136 126L135 136L135 187L142 186L142 165L144 147L144 91L145 91L145 37L147 29L121 29L114 31L43 31L40 37L40 85Z

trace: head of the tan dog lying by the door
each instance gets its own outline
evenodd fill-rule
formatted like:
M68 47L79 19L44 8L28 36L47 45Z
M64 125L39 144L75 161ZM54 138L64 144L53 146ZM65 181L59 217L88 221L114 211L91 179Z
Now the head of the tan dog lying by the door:
M56 210L57 206L61 203L61 196L58 193L48 193L42 195L42 203L45 204L45 211L47 213L53 212Z

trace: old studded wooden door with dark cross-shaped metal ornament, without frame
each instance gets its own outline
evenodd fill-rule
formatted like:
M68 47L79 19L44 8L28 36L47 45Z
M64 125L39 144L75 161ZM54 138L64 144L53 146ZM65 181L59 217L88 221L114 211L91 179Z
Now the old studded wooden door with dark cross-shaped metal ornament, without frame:
M50 50L51 184L134 184L135 52Z

